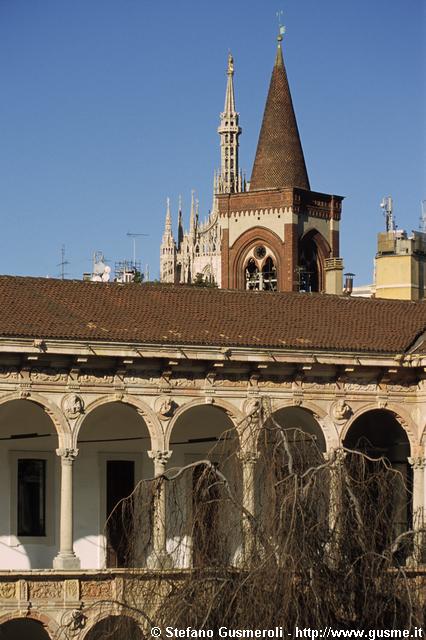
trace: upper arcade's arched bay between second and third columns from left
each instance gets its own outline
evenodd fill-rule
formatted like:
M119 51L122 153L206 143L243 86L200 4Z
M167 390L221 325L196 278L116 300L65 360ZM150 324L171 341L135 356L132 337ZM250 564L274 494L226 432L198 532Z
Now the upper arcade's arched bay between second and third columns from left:
M180 469L167 483L168 549L176 567L228 563L240 548L241 449L239 409L222 398L195 398L177 410L167 431L169 468ZM241 421L238 417L241 417ZM216 471L226 477L217 482ZM236 500L225 499L228 490ZM206 531L211 535L206 535Z

